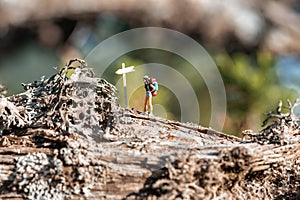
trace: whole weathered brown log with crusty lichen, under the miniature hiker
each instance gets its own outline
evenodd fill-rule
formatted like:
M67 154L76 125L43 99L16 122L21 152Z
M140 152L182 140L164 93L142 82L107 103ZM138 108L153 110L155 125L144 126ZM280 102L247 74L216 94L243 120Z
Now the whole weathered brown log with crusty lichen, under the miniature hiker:
M59 82L63 80L73 79ZM32 86L32 91L46 86ZM72 91L77 86L61 84ZM105 92L101 95L96 97L102 98ZM113 103L99 104L95 112L99 132L91 134L93 124L84 124L81 130L75 122L64 123L65 119L76 121L76 112L74 116L66 109L62 112L59 102L67 99L60 98L50 101L58 105L49 110L57 120L53 128L39 121L47 120L46 114L34 115L37 119L30 122L27 111L20 109L24 101L4 98L14 107L2 99L0 199L300 198L299 126L290 114L278 112L279 121L260 133L245 131L242 140ZM32 105L38 113L40 104ZM103 115L98 115L100 108ZM24 123L6 116L13 109Z

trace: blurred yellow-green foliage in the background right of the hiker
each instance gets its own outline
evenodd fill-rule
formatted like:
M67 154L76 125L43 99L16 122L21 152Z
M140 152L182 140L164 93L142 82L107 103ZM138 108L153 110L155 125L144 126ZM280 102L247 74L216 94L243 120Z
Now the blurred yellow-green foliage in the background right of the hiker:
M279 83L275 57L266 51L253 56L222 52L215 60L225 82L227 92L227 121L225 129L259 129L267 113L281 99L295 99L296 93Z

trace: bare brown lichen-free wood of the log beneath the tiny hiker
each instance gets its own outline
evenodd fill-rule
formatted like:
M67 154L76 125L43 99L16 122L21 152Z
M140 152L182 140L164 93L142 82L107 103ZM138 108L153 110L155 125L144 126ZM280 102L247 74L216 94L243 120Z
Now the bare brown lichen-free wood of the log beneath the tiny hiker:
M226 135L220 134L218 137L214 132L204 134L198 131L207 130L202 127L186 126L163 119L159 119L163 122L158 126L147 117L133 119L134 123L120 124L120 127L116 127L120 130L115 134L106 135L108 142L97 143L78 135L57 136L48 130L31 131L26 136L3 136L1 141L6 141L6 144L3 145L2 142L0 148L1 197L13 194L11 192L17 189L14 187L23 180L21 173L13 173L16 171L16 160L28 155L45 154L51 161L55 160L55 157L64 156L61 159L63 173L59 177L66 179L64 184L70 186L79 183L80 192L83 192L84 186L88 186L89 193L86 197L90 199L122 199L129 193L138 192L152 172L160 170L179 155L191 152L215 154L219 149L238 141L237 138ZM151 124L156 130L151 130ZM193 136L189 137L187 134ZM210 148L204 148L207 145ZM66 158L67 155L70 160ZM47 163L47 166L49 170L57 167L51 162ZM99 170L99 174L96 170ZM70 174L66 174L68 171ZM23 173L20 170L18 172ZM81 172L83 174L80 174ZM40 174L39 171L38 173ZM68 175L74 177L70 178ZM77 180L80 179L80 175L84 177L83 183ZM49 181L50 176L45 179ZM72 186L70 187L72 189ZM72 193L76 193L74 189ZM76 195L72 196L72 199L75 197Z

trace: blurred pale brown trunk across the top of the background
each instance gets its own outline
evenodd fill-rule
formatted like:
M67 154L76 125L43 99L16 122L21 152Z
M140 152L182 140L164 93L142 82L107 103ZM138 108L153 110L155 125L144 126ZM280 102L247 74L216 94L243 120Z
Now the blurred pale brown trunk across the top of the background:
M26 26L57 18L80 19L105 12L133 25L162 26L199 33L210 43L229 44L236 38L245 47L261 46L275 53L300 52L297 1L210 2L185 0L1 1L0 28ZM226 25L225 25L226 24Z

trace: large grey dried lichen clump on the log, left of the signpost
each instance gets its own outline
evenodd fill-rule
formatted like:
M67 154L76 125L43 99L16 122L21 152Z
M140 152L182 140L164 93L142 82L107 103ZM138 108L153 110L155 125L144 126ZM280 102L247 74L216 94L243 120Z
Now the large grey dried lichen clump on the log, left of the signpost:
M38 127L94 139L112 126L115 87L95 78L83 60L71 60L50 78L22 85L25 92L0 99L0 129L6 134Z

